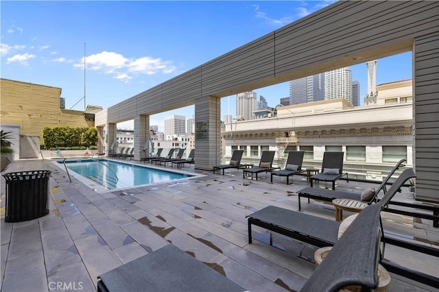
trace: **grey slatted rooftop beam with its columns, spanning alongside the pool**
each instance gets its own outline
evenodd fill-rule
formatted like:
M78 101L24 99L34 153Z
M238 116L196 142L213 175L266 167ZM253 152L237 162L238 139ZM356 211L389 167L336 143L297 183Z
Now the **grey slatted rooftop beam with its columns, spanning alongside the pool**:
M431 66L437 59L438 9L435 1L337 1L98 112L95 125L107 126L108 141L112 141L115 127L111 124L134 119L134 147L141 149L149 135L150 114L195 104L195 167L212 169L222 158L222 97L413 51L416 148L412 156L422 178L416 186L417 197L439 202L439 158L431 158L436 149L431 141L439 134L439 127L431 126L437 124L434 108L439 103L439 68ZM334 21L329 25L327 19ZM139 159L137 151L134 159Z

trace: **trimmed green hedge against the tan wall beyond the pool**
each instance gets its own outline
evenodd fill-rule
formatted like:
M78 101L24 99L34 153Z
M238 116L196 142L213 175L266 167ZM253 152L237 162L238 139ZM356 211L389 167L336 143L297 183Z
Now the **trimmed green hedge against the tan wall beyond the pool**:
M45 149L91 147L97 145L97 130L95 127L45 127L43 145Z

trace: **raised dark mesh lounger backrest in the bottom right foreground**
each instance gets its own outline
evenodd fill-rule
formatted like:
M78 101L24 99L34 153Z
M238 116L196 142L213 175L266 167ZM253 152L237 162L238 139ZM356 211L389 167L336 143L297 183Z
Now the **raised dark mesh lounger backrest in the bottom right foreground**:
M361 211L300 292L344 291L351 285L375 291L379 284L380 207L375 204Z

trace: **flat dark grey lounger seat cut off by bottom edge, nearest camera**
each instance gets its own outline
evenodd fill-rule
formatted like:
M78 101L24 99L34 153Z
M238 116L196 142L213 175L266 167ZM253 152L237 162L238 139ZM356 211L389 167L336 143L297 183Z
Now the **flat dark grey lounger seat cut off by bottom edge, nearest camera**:
M97 277L97 291L246 291L174 245Z

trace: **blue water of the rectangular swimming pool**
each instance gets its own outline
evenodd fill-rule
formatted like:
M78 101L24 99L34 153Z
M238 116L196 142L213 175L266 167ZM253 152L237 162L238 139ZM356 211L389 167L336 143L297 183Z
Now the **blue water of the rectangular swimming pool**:
M59 162L62 164L62 162ZM75 171L107 189L126 188L154 182L189 178L193 175L150 167L141 167L112 160L66 160L68 169Z

